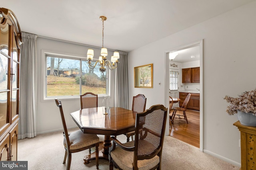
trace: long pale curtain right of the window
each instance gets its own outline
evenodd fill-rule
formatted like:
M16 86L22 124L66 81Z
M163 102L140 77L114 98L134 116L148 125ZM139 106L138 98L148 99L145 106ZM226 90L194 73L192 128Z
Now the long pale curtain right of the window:
M115 107L128 109L128 53L118 52L120 59L115 69Z

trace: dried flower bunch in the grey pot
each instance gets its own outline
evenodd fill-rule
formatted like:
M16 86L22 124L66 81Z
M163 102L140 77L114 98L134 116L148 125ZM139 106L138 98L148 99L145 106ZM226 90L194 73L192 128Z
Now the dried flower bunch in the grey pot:
M230 103L226 109L229 115L234 115L237 110L256 115L256 89L249 92L246 91L238 95L238 98L225 96L224 99Z

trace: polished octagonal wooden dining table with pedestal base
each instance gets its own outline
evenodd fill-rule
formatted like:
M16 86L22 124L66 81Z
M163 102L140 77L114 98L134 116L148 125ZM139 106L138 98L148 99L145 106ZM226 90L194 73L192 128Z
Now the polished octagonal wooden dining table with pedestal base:
M136 111L121 107L110 107L105 114L105 107L80 109L70 113L72 119L83 133L104 135L100 141L99 159L108 160L108 149L112 146L110 136L122 135L135 131ZM84 156L84 164L95 159L95 152Z

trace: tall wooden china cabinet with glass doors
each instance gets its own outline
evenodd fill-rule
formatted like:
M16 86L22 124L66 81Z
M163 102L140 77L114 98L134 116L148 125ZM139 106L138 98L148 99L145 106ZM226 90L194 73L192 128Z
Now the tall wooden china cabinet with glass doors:
M0 8L0 161L17 160L21 44L16 16Z

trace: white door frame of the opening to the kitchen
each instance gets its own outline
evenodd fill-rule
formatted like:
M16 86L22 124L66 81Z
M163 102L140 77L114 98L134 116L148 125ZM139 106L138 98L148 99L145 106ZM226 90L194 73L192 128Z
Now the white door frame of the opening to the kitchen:
M169 55L170 51L179 51L182 49L187 49L190 47L199 46L200 53L200 151L203 152L204 149L204 86L203 86L203 39L188 43L186 45L181 45L164 51L164 101L166 101L166 106L169 106ZM169 119L166 121L166 131L165 135L169 135Z

